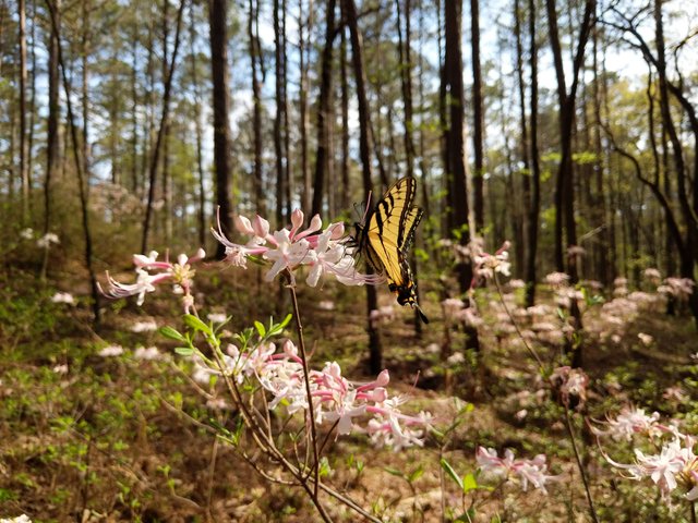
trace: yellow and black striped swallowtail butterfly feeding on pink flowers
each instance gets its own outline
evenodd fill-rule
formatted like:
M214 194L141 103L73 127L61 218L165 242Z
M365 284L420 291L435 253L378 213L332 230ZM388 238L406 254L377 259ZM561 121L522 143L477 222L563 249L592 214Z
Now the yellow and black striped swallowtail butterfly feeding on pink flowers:
M397 294L397 303L417 308L425 324L429 319L417 303L417 284L407 260L414 230L424 211L412 207L417 182L407 177L388 188L373 211L356 223L356 243L369 265L388 280L388 289Z

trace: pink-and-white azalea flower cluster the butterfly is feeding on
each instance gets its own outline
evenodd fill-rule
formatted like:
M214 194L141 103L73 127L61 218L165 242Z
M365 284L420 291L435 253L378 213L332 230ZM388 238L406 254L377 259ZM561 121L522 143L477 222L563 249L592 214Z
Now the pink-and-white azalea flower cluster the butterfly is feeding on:
M256 257L272 263L272 268L264 279L272 281L285 270L292 271L306 265L311 267L306 282L310 287L317 285L323 275L334 276L347 285L362 285L378 283L383 278L377 275L361 275L354 267L352 248L347 245L345 226L341 222L330 223L323 230L323 222L315 215L305 230L304 215L300 209L291 214L291 228L270 232L269 222L256 216L250 221L244 216L236 217L238 232L249 238L244 244L234 243L224 234L218 223L218 230L213 234L226 247L226 262L246 268L248 258Z

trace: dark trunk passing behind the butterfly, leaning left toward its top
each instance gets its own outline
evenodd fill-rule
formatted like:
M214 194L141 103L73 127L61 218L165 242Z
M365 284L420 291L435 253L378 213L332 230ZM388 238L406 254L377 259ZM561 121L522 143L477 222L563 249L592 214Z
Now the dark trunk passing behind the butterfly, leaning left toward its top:
M371 179L371 143L369 133L371 130L371 117L369 114L369 104L366 100L366 80L363 68L363 44L361 33L357 23L357 7L353 0L341 0L341 12L349 27L351 38L351 61L353 64L354 82L357 85L357 102L359 106L359 153L361 156L361 173L363 178L363 190L365 198L373 192L373 181ZM370 268L368 272L371 272ZM378 300L375 287L366 287L366 328L369 331L370 368L372 374L377 374L383 367L383 349L381 346L381 336L377 328L371 321L371 311L378 308Z

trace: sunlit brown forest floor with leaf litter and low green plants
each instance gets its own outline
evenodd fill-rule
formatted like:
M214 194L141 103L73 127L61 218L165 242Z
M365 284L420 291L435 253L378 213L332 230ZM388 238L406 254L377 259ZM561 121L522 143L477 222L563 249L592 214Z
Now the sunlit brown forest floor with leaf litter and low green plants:
M70 273L50 275L59 289L34 271L0 275L0 519L25 513L35 523L321 521L299 488L265 481L210 434L210 419L229 426L234 413L227 403L201 397L173 343L157 331L133 332L143 321L179 327L176 297L158 290L143 307L133 300L107 303L96 331L84 302L87 290L75 288ZM279 297L284 289L261 282L255 269L237 275L205 269L196 285L200 306L231 315L232 331L289 308ZM384 367L390 391L409 398L402 411L431 412L442 434L428 436L423 448L397 452L374 448L362 434L330 438L326 483L383 521L468 521L467 509L471 521L590 521L565 417L496 289L478 291L483 324L476 354L464 352L462 332L444 323L437 289L429 281L423 288L432 321L417 336L413 315L396 306L394 318L381 326ZM55 303L57 291L72 292L77 304ZM556 366L565 320L554 294L547 289L540 294L546 307L538 318L520 313L520 291L510 291L505 301L524 339ZM380 296L381 305L393 301L383 289ZM366 370L363 300L361 288L301 289L313 366L337 361L354 381L374 378ZM666 316L661 300L636 301L641 305L613 313L622 323L610 324L609 308L600 303L583 311L579 340L590 385L583 412L571 415L576 442L600 521L688 522L688 503L677 497L664 502L650 482L613 471L585 421L636 405L664 421L679 419L696 434L693 321ZM296 332L289 326L285 336L294 339ZM104 348L115 345L123 352L106 355ZM145 351L151 346L157 352ZM609 445L604 451L616 461L633 461L627 445ZM522 491L514 481L488 482L476 474L480 446L510 448L517 458L544 453L557 478L546 494L531 485ZM441 460L461 478L471 474L479 488L464 494ZM335 521L362 521L323 499Z

